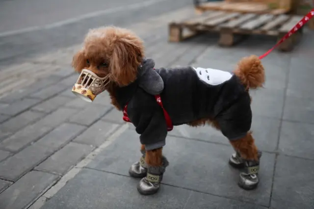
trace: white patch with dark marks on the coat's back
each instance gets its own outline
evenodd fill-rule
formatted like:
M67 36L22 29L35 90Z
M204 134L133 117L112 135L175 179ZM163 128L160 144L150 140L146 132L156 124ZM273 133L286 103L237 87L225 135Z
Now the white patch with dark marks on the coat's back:
M219 85L232 77L232 74L222 70L211 68L194 68L198 78L209 85Z

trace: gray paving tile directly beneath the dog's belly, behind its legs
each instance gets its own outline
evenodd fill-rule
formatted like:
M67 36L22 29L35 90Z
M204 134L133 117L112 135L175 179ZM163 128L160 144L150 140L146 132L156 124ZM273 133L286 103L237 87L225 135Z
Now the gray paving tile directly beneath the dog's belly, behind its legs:
M88 167L128 175L130 165L140 157L139 149L136 132L125 131ZM170 165L164 174L163 183L267 207L275 155L263 153L261 184L256 190L246 191L237 185L239 171L228 164L232 153L230 146L168 137L164 155L169 159Z

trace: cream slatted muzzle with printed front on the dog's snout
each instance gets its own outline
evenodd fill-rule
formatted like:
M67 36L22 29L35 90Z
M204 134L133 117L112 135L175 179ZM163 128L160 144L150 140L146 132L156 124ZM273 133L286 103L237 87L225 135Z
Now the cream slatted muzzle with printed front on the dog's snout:
M98 94L105 91L108 83L109 75L100 78L90 70L83 69L72 88L72 92L86 102L93 102Z

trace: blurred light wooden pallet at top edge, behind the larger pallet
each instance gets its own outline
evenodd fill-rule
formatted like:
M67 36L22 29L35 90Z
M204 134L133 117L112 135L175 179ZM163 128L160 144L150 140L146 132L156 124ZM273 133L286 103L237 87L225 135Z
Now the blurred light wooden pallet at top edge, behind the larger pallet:
M227 12L256 13L256 14L286 14L290 8L271 9L265 3L261 2L206 2L195 7L198 14L202 14L208 10L219 10Z

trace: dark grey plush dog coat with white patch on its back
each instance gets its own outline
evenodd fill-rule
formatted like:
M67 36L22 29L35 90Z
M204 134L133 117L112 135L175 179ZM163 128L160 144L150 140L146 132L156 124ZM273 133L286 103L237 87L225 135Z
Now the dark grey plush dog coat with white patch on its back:
M165 145L167 124L154 95L160 94L164 109L174 126L200 119L218 122L229 140L239 139L251 129L250 96L235 75L210 68L191 66L154 69L145 59L137 79L116 91L146 150Z

